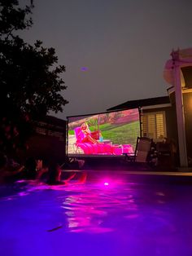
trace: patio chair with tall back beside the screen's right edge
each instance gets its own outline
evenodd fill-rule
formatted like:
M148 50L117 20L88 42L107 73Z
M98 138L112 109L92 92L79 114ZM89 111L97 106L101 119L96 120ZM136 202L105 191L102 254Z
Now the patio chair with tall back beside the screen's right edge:
M146 163L149 161L152 139L146 137L137 137L136 148L133 156L127 156L128 161Z

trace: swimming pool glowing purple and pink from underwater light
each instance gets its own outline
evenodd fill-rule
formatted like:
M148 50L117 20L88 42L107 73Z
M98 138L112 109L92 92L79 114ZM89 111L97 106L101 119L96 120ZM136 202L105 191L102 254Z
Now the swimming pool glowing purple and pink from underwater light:
M99 171L2 187L0 255L191 256L192 186L168 180Z

